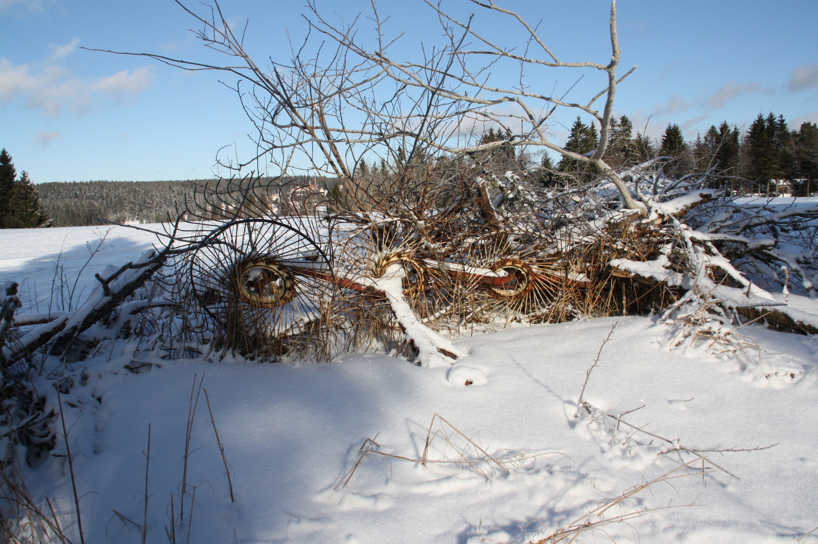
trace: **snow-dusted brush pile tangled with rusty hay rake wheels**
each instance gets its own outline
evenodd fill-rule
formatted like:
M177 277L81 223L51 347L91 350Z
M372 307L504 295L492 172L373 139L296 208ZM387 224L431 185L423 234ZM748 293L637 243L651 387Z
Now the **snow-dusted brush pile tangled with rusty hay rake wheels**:
M735 206L704 178L668 180L649 164L622 172L644 203L635 211L605 176L546 188L537 172L435 167L333 200L303 190L284 203L281 185L249 177L203 185L187 222L160 233L173 255L131 303L146 309L115 312L108 327L170 358L380 350L424 366L459 359L452 338L512 323L663 312L706 336L759 316L815 330L748 274L789 259L800 279L789 288L807 293L814 261L727 234L723 215L704 221ZM736 257L739 242L757 251Z

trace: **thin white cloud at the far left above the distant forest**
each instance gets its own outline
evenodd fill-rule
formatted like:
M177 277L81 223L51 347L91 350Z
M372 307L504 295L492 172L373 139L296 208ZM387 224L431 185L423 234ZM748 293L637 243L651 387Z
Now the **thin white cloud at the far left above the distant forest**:
M74 47L71 42L66 47ZM24 100L26 107L38 109L49 117L69 108L84 112L97 95L119 100L135 96L151 85L151 67L122 70L104 78L72 78L70 70L61 65L14 65L0 58L0 105L13 100Z

